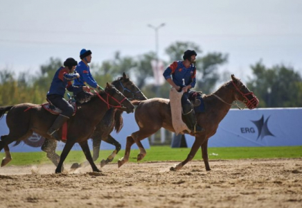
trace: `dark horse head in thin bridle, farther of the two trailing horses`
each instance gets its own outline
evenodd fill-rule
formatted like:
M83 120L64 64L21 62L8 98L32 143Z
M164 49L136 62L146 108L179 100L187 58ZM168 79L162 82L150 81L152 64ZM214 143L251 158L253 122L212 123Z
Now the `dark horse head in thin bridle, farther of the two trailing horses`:
M123 73L123 76L121 78L118 78L117 80L114 80L112 82L112 85L116 87L126 98L128 98L130 101L138 100L138 101L145 101L147 98L141 92L139 87L137 87L132 80L128 76L126 76L125 72Z

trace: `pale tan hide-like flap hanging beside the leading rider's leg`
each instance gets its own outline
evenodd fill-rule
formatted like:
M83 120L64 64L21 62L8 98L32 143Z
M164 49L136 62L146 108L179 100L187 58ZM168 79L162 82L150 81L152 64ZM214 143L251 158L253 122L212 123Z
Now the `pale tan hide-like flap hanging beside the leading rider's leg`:
M172 115L172 125L175 130L175 134L178 135L183 131L188 129L188 126L181 119L181 96L184 94L184 91L177 92L175 88L170 89L170 106L171 106L171 115Z

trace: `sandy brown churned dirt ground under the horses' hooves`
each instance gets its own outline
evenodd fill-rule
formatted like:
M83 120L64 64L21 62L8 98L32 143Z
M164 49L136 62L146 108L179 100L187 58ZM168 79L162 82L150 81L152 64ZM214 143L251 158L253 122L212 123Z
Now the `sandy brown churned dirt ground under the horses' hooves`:
M55 174L55 166L0 168L0 207L302 207L302 159L109 164ZM98 164L99 166L99 164Z

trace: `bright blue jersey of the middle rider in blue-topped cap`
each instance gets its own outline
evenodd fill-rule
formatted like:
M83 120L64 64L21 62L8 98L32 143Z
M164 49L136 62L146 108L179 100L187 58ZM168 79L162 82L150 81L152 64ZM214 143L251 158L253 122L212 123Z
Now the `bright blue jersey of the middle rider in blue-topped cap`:
M75 71L80 74L80 78L74 80L75 86L85 86L85 83L87 83L91 87L98 87L98 83L96 83L96 80L92 77L89 66L86 65L85 62L80 61Z

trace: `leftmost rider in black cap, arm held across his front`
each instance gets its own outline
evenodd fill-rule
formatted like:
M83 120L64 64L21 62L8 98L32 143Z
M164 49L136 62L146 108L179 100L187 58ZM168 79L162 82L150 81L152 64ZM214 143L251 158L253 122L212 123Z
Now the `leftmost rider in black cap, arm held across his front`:
M60 140L57 135L57 130L59 130L61 126L70 118L70 116L72 116L74 110L73 106L64 99L66 89L69 92L89 90L89 88L86 86L76 87L71 83L72 80L80 77L78 73L73 73L77 64L78 62L73 58L67 58L64 61L64 67L60 67L55 72L51 87L46 96L50 103L62 110L62 113L57 116L57 119L55 119L55 122L53 125L51 125L51 128L49 128L46 132L47 135L57 140Z

